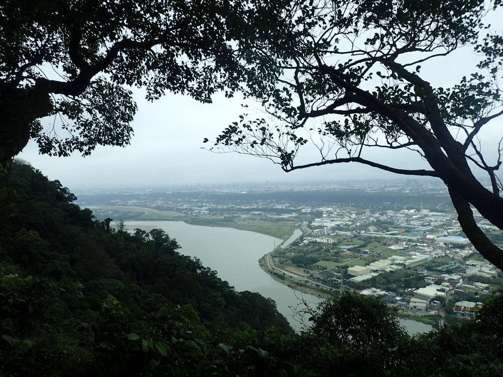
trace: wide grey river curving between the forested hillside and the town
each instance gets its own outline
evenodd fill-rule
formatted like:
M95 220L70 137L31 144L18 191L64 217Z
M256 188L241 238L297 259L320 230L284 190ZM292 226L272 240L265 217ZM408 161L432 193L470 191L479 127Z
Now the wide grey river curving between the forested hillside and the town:
M130 230L164 230L182 246L179 250L182 254L198 257L203 265L218 271L218 276L227 280L236 291L258 292L273 299L278 311L296 330L302 328L303 317L296 314L305 308L302 302L315 307L321 301L316 296L281 284L259 266L259 259L282 242L279 238L234 228L190 225L181 221L126 221L125 225ZM401 322L411 334L431 329L431 326L415 321Z

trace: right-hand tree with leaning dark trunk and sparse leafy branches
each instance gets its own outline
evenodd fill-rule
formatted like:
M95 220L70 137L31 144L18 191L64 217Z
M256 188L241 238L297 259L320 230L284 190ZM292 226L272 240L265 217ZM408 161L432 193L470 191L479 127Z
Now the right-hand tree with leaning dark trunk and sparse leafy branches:
M472 211L503 229L501 141L488 151L478 138L503 115L503 36L484 22L498 12L499 1L298 2L288 20L288 38L294 38L285 51L288 64L279 63L276 87L258 98L268 118L242 117L211 149L270 158L285 171L356 162L438 177L463 232L503 269L503 251L486 238ZM449 70L458 50L479 57L474 70L451 87L429 82L422 65ZM309 146L316 160L297 163ZM376 149L411 150L431 169L380 163Z

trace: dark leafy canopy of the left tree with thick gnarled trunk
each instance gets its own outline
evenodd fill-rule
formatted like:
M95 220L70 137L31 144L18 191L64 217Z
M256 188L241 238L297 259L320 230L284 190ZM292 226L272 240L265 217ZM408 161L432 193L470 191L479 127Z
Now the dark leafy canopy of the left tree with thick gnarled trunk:
M0 5L0 162L124 146L136 112L171 91L211 102L275 71L287 2L6 0ZM49 117L41 122L41 118ZM166 114L166 119L169 115Z

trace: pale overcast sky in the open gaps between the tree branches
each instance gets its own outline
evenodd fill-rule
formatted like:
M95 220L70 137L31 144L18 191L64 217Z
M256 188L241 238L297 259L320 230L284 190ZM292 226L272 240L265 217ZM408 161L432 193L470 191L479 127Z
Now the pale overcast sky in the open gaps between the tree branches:
M473 72L479 60L470 51L457 51L442 60L422 64L422 76L434 86L449 86ZM242 99L214 97L213 104L200 104L191 98L169 94L149 103L141 91L135 93L138 112L132 124L134 136L125 148L98 147L91 156L48 157L38 154L30 142L18 156L40 169L49 179L59 179L71 190L86 187L133 185L176 185L187 183L227 183L263 181L347 180L358 178L399 178L398 175L358 165L338 164L285 173L263 158L237 153L217 154L202 149L204 138L214 138L231 122L237 121ZM249 113L249 111L247 111ZM260 115L262 117L262 115ZM49 122L47 122L49 123ZM503 123L485 130L482 141L492 145L483 151L494 154ZM302 148L301 148L302 149ZM392 151L387 155L368 155L398 168L429 168L415 154ZM318 158L319 160L319 158ZM315 162L316 156L301 154L300 162Z

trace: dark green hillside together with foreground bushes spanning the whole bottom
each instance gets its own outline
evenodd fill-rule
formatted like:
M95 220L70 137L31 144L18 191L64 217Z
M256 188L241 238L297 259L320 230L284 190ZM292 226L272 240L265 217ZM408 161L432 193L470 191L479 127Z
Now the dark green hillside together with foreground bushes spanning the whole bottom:
M344 292L295 334L274 303L236 293L163 231L93 221L60 182L4 170L0 376L503 374L501 295L413 338L395 309Z

